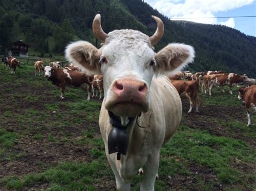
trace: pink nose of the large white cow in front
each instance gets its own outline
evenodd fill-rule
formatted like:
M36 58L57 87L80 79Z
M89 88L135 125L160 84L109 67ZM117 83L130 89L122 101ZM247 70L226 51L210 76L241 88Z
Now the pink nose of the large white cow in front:
M143 97L147 94L147 86L145 82L138 80L118 80L114 83L113 91L118 96L140 96Z

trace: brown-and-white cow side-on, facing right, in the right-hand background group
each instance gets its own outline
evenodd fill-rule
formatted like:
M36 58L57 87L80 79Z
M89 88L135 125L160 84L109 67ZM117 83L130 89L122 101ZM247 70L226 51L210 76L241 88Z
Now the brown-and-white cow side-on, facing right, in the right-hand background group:
M212 95L211 91L212 88L215 86L224 86L230 87L230 94L232 95L233 86L237 83L242 83L244 80L247 80L248 77L246 75L238 75L234 73L227 73L227 74L215 74L213 78L208 82L209 87L209 95ZM224 92L224 89L222 89Z

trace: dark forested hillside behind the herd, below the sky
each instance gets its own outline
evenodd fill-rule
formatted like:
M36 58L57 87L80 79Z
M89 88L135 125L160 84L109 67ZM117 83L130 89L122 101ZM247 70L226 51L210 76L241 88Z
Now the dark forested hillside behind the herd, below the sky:
M171 42L190 44L196 49L193 71L224 70L256 77L256 38L221 25L172 22L140 0L3 0L0 5L0 45L23 39L38 52L62 53L70 41L95 43L93 17L100 11L105 32L136 29L151 35L156 29L151 15L165 24L156 51ZM1 47L1 46L0 46Z

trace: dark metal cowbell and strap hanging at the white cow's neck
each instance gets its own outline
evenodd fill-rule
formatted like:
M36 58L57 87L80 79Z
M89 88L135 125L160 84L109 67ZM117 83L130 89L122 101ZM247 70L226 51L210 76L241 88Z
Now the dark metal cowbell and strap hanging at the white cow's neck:
M127 135L127 129L132 126L135 117L129 117L129 123L123 126L119 117L114 115L111 111L108 112L110 117L110 124L113 127L107 139L109 154L117 152L117 160L120 160L121 154L126 155L130 139L129 135Z

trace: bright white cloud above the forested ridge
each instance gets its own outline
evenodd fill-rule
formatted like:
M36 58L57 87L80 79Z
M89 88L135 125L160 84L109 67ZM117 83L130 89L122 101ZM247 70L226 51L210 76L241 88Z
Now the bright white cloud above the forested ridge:
M205 24L221 24L229 27L235 26L234 18L230 18L225 22L218 22L217 18L202 17L215 17L214 13L239 8L251 4L253 1L254 0L145 0L145 2L149 3L154 9L157 9L169 18L187 18L184 20Z

